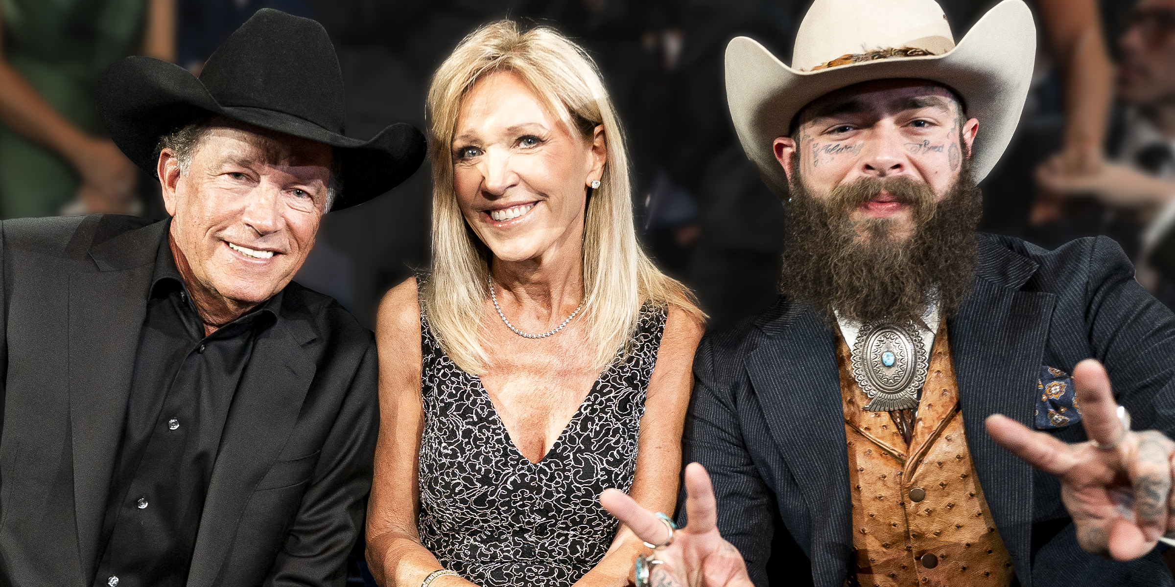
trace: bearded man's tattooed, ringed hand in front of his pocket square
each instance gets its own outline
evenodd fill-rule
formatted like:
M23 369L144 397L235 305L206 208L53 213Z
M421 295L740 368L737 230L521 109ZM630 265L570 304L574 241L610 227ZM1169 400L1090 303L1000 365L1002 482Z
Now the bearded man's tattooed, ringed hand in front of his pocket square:
M1005 448L1061 479L1061 500L1077 527L1077 542L1116 560L1150 552L1164 533L1175 535L1171 500L1175 443L1156 431L1122 430L1106 369L1086 359L1073 370L1081 424L1093 443L1065 444L1003 416L987 432Z

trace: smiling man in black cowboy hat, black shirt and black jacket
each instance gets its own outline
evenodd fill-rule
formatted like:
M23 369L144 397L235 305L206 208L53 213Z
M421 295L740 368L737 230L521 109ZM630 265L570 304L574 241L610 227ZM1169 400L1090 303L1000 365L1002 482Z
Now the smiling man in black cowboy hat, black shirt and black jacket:
M375 344L290 279L322 215L411 175L423 137L343 136L325 32L276 11L199 80L129 58L98 101L172 218L0 224L0 585L342 585Z

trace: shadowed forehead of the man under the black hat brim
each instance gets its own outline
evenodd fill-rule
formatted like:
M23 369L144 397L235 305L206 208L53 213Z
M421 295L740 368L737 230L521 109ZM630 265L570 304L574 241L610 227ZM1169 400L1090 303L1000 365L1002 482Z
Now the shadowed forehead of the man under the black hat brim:
M199 156L280 167L321 167L329 171L334 163L334 148L317 141L216 116L209 121L200 142Z

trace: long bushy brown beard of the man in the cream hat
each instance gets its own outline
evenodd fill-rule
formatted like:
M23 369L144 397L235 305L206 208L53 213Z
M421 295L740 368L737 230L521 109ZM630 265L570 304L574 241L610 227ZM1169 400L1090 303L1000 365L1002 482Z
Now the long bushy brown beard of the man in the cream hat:
M893 237L888 218L848 218L882 189L911 207L914 230L905 239ZM934 297L942 316L962 304L982 212L969 166L940 201L928 185L905 177L838 185L826 201L797 177L791 196L780 292L812 306L830 324L835 323L834 310L855 322L921 324Z

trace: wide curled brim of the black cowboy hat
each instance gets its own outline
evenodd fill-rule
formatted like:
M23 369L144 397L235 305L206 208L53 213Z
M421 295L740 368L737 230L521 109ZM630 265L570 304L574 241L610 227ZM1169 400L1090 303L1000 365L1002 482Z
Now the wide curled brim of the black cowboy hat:
M410 124L392 124L371 140L360 141L286 113L222 106L187 69L152 58L115 62L102 73L96 94L110 139L152 175L160 137L210 114L335 147L342 158L343 188L331 211L395 188L416 173L425 155L424 135Z

